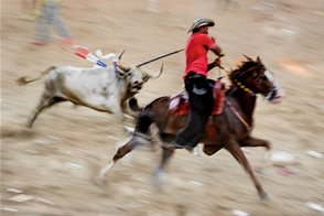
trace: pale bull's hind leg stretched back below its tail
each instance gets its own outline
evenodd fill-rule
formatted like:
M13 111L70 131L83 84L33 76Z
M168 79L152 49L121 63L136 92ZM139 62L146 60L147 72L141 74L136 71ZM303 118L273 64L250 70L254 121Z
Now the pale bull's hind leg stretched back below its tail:
M65 99L50 96L48 94L44 93L39 105L36 108L32 111L32 114L29 116L26 122L24 123L25 127L31 128L37 118L37 116L43 111L45 108L48 108L57 102L64 101Z

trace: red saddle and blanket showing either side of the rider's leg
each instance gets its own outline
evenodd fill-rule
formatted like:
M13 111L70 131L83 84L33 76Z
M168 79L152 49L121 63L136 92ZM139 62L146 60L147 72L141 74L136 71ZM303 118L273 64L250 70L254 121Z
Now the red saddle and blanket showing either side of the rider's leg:
M214 108L212 116L219 115L223 111L224 99L225 99L225 85L217 79L213 85L214 95ZM175 116L185 116L190 114L190 102L188 95L186 91L181 91L180 94L170 98L169 110Z

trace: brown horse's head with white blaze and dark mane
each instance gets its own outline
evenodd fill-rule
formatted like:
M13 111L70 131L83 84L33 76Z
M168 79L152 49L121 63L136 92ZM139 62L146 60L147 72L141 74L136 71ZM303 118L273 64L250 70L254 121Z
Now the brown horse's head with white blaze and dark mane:
M261 94L272 104L281 102L284 94L273 74L266 68L259 56L256 61L248 56L246 58L229 74L231 83L250 94Z

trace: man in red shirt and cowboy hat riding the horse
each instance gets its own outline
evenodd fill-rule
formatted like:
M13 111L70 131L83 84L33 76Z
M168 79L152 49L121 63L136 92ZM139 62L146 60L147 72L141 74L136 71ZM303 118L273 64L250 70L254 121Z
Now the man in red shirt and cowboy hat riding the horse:
M177 131L172 144L176 149L192 150L204 133L205 123L213 111L214 98L212 87L207 82L207 72L220 65L224 56L214 37L208 35L208 28L215 23L210 19L196 19L188 30L192 35L186 42L186 68L183 75L185 89L190 100L190 119L185 128ZM218 57L208 64L208 51Z

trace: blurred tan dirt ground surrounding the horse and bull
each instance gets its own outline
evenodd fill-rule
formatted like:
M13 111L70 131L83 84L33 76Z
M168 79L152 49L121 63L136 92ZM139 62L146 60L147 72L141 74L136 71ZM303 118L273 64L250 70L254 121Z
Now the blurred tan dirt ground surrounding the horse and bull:
M276 106L258 99L253 134L269 140L272 150L246 150L270 196L266 202L225 150L213 156L176 152L156 187L152 173L160 152L142 147L112 168L106 185L97 186L94 176L129 138L111 115L66 102L24 128L43 80L21 87L15 79L34 77L53 64L91 64L62 50L55 32L50 45L30 44L34 22L19 18L21 3L1 1L0 215L323 215L307 205L324 206L323 156L306 154L324 153L322 0L63 1L62 15L77 44L93 52L126 50L126 65L182 48L198 17L216 22L209 34L226 53L226 68L244 60L241 54L260 55L287 94ZM141 105L181 89L184 54L144 68L153 73L162 63L162 76L138 95ZM210 77L218 75L218 69L210 72ZM270 158L278 152L295 161L273 165Z

